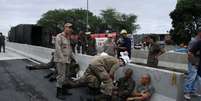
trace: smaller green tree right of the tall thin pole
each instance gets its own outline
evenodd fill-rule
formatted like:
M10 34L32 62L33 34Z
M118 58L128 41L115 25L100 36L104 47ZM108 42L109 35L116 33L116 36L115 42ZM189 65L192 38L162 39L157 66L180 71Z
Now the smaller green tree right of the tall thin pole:
M117 12L115 9L106 9L101 12L101 19L105 29L110 29L112 31L121 31L126 29L129 33L136 32L139 28L136 23L136 15L126 15Z

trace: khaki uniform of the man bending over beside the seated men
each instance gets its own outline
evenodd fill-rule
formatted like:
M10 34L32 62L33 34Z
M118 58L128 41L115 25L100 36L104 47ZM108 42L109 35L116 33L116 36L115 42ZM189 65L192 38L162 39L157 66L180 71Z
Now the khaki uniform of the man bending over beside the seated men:
M86 83L89 87L100 88L103 94L111 96L114 87L111 76L118 67L118 59L112 56L96 57L77 83Z

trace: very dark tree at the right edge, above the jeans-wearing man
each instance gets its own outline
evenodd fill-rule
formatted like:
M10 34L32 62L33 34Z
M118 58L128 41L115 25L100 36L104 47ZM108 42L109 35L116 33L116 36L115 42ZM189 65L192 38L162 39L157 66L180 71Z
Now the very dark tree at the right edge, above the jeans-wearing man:
M201 26L201 0L180 0L170 13L170 35L176 44L188 43Z

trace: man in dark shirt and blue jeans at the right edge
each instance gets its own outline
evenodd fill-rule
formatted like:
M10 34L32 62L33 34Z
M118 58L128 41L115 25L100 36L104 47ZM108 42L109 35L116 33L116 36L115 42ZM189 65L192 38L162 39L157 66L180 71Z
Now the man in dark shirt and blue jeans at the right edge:
M200 96L200 94L196 92L197 89L196 82L198 81L197 68L199 65L199 55L198 55L199 52L197 54L193 54L192 52L189 51L200 39L201 39L201 30L198 29L196 37L192 38L188 45L188 56L189 56L188 71L187 71L188 75L186 77L184 84L184 98L187 100L191 99L191 95Z

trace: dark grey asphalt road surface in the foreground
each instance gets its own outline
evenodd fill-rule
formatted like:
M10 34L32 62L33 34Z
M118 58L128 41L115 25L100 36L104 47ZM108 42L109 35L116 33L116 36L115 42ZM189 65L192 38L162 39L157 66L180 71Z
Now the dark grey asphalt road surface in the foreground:
M30 71L25 68L33 64L16 54L0 53L0 101L60 101L55 97L55 83L44 78L48 70ZM70 92L73 95L66 96L65 101L93 101L87 88L71 89ZM194 97L189 101L201 99Z

